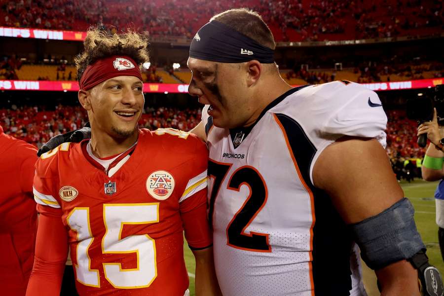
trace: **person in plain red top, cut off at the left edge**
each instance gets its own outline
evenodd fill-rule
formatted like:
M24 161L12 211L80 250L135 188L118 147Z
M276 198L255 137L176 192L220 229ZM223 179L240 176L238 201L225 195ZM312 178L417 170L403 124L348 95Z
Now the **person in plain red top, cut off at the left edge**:
M23 296L34 261L37 230L33 176L37 149L0 126L0 287Z

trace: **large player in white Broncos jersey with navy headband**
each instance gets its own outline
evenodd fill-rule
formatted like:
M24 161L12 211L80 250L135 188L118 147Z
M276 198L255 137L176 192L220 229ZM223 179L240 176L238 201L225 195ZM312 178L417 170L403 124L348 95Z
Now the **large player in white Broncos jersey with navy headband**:
M366 295L355 242L383 295L419 295L408 260L425 247L384 150L378 96L349 81L292 88L274 48L247 9L214 16L190 46L223 295Z

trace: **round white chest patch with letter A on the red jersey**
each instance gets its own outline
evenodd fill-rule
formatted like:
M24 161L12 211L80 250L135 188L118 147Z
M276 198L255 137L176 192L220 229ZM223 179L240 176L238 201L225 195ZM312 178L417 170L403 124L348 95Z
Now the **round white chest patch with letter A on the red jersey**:
M166 171L152 172L147 179L149 195L158 200L165 200L170 197L173 193L174 185L173 175Z

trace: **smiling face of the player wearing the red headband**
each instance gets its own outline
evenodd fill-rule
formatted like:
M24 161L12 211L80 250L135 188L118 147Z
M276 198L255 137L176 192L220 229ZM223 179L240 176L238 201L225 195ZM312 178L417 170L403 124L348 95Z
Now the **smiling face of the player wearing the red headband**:
M115 138L137 132L144 109L143 83L135 76L117 76L90 90L91 126Z

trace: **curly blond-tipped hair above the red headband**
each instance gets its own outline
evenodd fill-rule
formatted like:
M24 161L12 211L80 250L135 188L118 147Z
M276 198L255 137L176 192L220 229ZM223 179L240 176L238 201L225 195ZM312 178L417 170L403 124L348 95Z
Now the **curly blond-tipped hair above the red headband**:
M129 56L139 67L149 61L148 38L130 29L126 33L109 35L101 26L90 27L83 45L84 50L74 59L79 82L86 67L105 57Z

